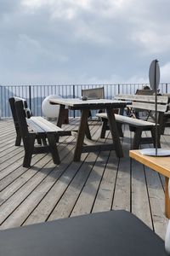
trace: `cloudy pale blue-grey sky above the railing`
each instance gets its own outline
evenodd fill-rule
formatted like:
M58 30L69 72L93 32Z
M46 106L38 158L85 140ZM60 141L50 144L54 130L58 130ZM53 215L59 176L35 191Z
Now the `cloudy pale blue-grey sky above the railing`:
M169 0L0 0L0 84L170 82Z

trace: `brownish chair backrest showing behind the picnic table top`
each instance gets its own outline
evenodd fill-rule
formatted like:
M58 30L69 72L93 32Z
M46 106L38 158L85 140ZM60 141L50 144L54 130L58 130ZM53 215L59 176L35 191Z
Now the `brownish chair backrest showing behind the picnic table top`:
M82 96L87 96L88 99L104 99L105 90L104 87L82 89Z

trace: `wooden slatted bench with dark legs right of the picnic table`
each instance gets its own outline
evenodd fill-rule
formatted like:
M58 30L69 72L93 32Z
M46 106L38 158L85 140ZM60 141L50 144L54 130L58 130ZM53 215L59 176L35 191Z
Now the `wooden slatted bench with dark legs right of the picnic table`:
M141 95L119 95L115 99L123 101L131 101L131 108L138 108L148 111L155 111L155 96L141 96ZM164 113L168 109L168 97L158 96L157 97L157 113L158 113L158 129L157 129L157 146L161 148L160 137L161 127L163 126ZM97 113L103 121L102 131L100 137L105 137L105 131L108 129L108 120L106 113ZM116 123L118 125L119 134L122 137L122 124L129 125L130 131L134 131L133 137L133 149L138 149L140 144L153 143L156 146L156 125L154 122L149 122L142 119L134 119L121 114L115 114ZM151 137L142 137L143 131L150 131Z

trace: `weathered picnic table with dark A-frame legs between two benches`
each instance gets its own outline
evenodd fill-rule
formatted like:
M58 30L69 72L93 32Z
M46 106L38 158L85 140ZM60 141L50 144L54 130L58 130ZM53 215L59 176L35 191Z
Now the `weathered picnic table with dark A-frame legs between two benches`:
M122 146L117 131L115 115L113 112L114 108L125 108L127 103L106 99L95 99L82 101L80 99L51 99L49 100L51 104L59 104L59 118L57 126L61 127L62 125L62 112L65 109L65 106L72 110L81 110L81 120L77 134L77 144L74 152L74 160L79 161L81 158L82 152L94 152L98 150L116 150L116 155L122 157ZM106 110L111 130L111 137L113 143L110 144L98 144L98 145L83 145L84 137L91 139L89 127L88 127L88 113L91 109L104 109Z

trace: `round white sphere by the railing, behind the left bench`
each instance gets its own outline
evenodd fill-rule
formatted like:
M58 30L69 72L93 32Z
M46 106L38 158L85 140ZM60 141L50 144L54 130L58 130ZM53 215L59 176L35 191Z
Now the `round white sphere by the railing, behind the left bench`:
M49 103L50 99L61 98L59 95L49 95L42 102L42 113L47 118L58 118L59 116L59 105L52 105Z

